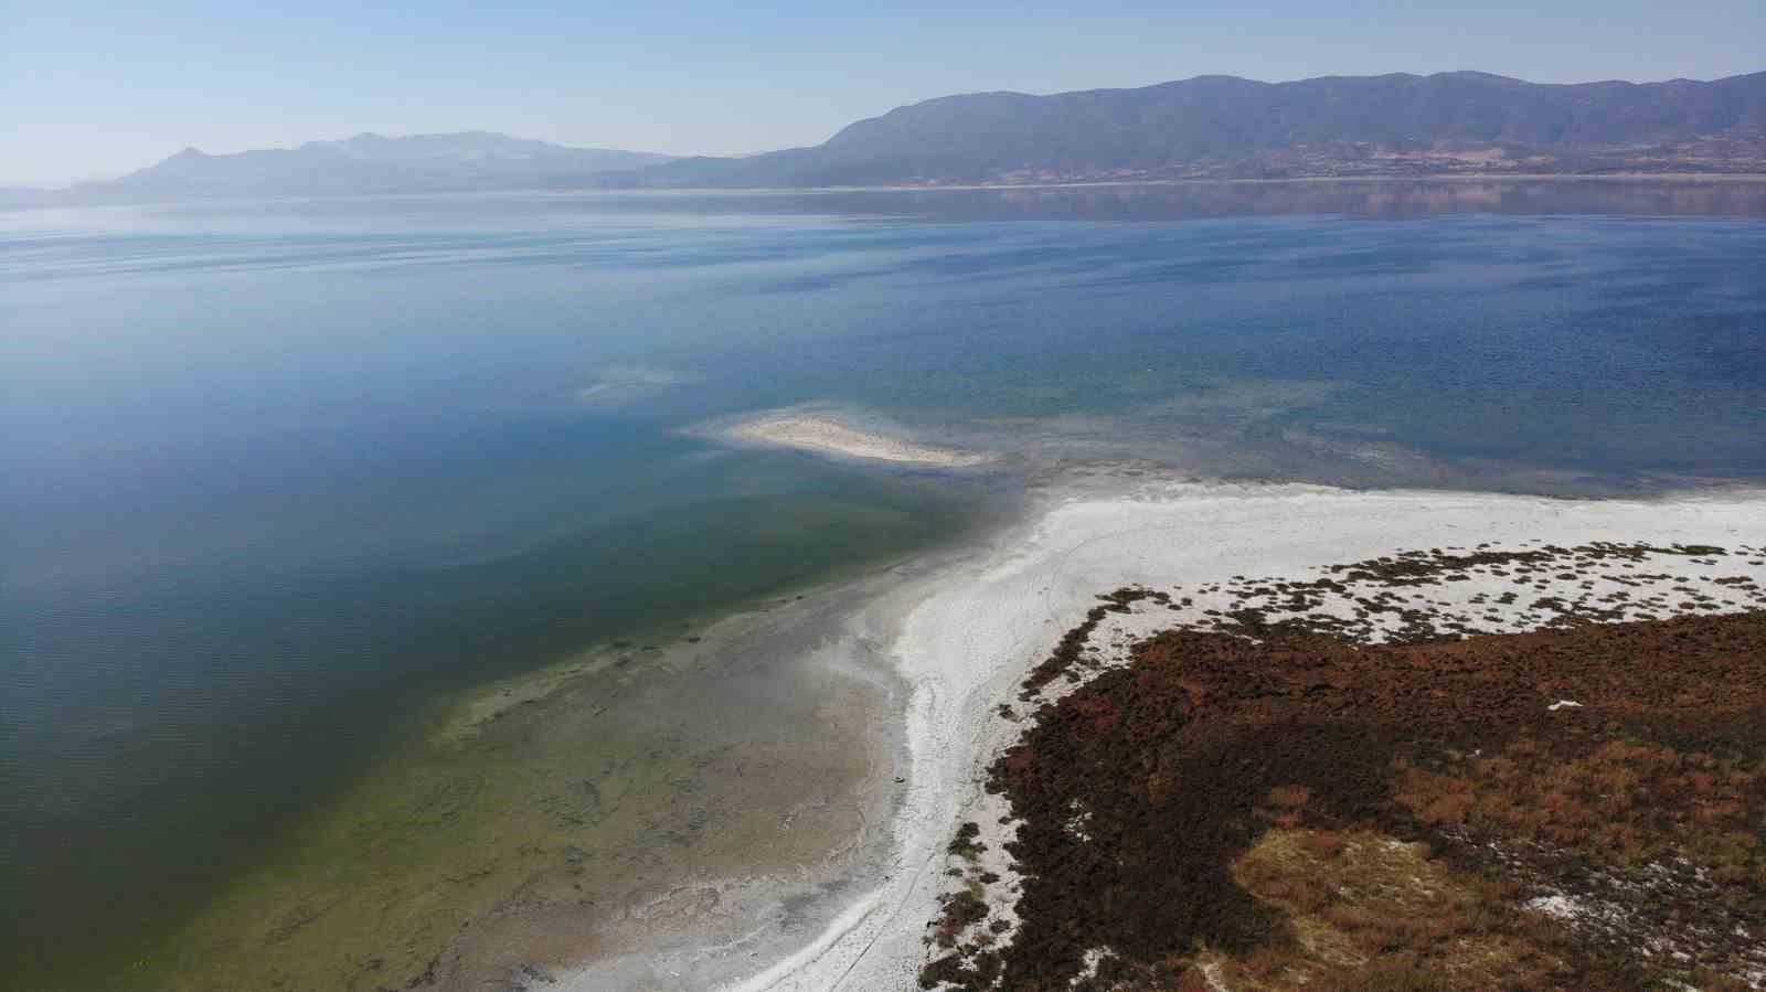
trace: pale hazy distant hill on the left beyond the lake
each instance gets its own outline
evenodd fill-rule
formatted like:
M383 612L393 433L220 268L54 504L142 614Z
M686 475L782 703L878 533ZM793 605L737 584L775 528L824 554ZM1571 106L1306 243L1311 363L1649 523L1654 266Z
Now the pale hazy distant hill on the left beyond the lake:
M410 138L357 134L235 155L185 148L122 178L79 184L67 196L92 201L556 187L668 161L671 155L567 148L486 131Z

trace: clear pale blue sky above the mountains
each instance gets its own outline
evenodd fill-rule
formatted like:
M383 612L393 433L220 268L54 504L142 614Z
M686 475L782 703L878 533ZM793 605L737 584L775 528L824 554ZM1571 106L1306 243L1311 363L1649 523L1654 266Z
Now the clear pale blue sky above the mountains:
M1766 69L1762 39L1762 0L0 0L0 184L362 131L740 154L947 94L1206 72L1713 79Z

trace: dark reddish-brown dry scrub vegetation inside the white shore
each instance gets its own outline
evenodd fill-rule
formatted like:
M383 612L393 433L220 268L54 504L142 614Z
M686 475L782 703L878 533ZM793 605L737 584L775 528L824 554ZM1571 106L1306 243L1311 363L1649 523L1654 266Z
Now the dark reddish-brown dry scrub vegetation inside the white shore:
M1473 565L1430 558L1363 565L1393 584ZM1127 605L1095 609L1037 685ZM1136 644L992 768L1019 821L1017 923L964 874L922 985L1766 985L1766 612L1538 611L1554 628L1408 623L1395 644L1247 611Z

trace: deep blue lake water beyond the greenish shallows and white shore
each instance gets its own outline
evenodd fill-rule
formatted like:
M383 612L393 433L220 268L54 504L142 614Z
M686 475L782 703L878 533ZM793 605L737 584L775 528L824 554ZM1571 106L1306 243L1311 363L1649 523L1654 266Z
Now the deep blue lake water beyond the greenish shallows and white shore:
M828 402L1024 464L1374 485L1766 478L1762 205L1559 182L0 214L0 966L189 913L413 701L947 540L1005 485L680 434L708 417Z

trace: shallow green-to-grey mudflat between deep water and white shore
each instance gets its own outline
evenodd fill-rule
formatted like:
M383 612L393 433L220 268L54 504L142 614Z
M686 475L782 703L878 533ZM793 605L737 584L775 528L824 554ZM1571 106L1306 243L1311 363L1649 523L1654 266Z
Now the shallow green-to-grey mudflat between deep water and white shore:
M924 558L436 694L127 978L687 990L784 953L881 856L902 690L839 632Z

